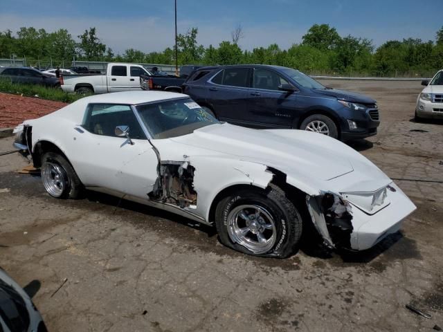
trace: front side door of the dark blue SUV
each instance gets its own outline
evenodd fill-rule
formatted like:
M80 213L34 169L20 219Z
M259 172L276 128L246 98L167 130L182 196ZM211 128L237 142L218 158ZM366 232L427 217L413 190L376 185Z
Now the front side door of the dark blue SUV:
M282 91L279 86L289 82L276 71L254 68L248 118L257 128L291 128L296 117L296 91Z

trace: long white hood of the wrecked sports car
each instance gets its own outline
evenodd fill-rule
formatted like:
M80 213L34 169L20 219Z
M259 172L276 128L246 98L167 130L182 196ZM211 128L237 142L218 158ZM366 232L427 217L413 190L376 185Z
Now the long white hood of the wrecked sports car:
M215 124L172 140L261 163L291 176L311 178L313 182L330 181L344 174L357 172L358 174L352 176L353 179L358 178L359 183L373 183L365 187L368 191L390 183L383 172L354 149L318 133L293 129L257 130L231 124ZM203 154L202 151L195 152ZM336 185L334 187L336 190L352 190L353 183L342 183L340 188Z

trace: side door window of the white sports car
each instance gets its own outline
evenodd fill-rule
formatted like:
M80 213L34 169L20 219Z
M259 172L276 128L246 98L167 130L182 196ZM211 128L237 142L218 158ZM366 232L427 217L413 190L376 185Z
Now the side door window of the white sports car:
M84 129L96 135L118 137L118 126L128 126L130 138L146 139L129 105L89 104L82 123Z

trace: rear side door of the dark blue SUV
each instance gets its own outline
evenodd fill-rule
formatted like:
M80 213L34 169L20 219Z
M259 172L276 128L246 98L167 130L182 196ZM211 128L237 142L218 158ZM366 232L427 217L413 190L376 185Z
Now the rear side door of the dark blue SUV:
M247 120L249 73L248 67L226 68L208 80L206 100L219 120L231 123Z

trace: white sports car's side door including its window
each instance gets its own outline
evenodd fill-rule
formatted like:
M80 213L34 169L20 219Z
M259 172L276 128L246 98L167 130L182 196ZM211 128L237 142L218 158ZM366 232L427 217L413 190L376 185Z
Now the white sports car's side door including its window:
M129 127L131 141L116 136L117 126ZM156 181L158 160L132 107L89 104L82 125L73 130L75 138L67 151L85 186L147 198Z

